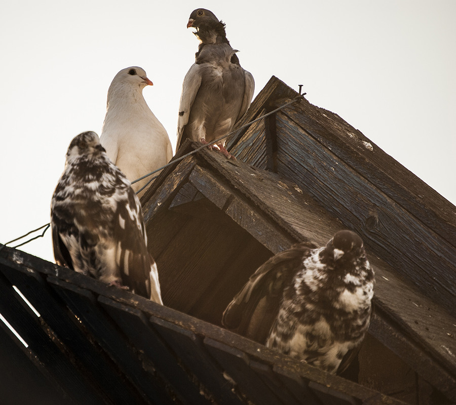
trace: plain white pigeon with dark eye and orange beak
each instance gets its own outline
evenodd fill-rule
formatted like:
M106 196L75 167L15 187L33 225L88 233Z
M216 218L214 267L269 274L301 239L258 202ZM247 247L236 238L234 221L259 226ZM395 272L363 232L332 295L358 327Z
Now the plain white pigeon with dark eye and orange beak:
M100 142L112 162L134 181L166 165L173 155L171 142L142 95L152 85L138 66L122 69L112 79ZM132 185L138 191L149 179Z

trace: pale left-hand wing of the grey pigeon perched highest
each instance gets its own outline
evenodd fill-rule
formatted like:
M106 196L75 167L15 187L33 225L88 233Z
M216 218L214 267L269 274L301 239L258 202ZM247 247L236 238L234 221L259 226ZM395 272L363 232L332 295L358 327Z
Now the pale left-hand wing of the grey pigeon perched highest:
M177 119L177 146L176 150L179 149L180 145L185 140L184 128L188 123L188 117L190 116L190 110L192 109L193 102L195 101L198 90L200 89L202 82L202 70L203 65L194 63L187 74L184 77L182 84L182 93L180 95L179 103L179 117Z

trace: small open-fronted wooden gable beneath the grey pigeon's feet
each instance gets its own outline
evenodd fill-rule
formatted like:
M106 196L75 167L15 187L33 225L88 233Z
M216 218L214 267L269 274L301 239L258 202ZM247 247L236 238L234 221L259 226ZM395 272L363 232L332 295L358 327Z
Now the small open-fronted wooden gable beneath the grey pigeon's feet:
M344 228L300 187L208 149L162 173L142 201L165 305L220 325L226 305L265 258L300 240L323 245ZM372 245L368 239L376 272L369 333L456 398L456 319Z

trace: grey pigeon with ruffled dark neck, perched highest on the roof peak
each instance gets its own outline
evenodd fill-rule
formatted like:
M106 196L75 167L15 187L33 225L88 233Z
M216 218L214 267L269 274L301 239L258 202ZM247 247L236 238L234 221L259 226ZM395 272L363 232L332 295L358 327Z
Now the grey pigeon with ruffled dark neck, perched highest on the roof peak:
M201 43L182 84L176 149L186 138L210 144L230 133L247 111L255 88L253 76L241 67L238 51L226 39L223 22L209 10L197 9L188 27L197 29ZM224 140L217 145L230 157Z

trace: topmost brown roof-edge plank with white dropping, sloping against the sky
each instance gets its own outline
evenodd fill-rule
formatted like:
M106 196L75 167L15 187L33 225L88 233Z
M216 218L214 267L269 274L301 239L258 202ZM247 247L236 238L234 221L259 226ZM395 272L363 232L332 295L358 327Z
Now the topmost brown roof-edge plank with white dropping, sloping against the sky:
M282 112L456 247L454 206L337 114L307 100Z

